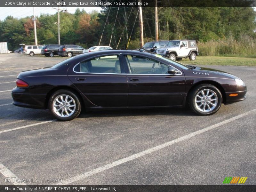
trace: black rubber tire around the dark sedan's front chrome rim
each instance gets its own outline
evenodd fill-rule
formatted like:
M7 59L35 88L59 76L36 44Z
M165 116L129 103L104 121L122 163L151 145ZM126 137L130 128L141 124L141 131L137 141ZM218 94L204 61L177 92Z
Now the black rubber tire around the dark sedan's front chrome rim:
M202 91L202 90L205 90L204 92L206 92L205 94L207 94L207 90L210 90L212 93L214 92L215 93L215 95L213 95L212 97L213 97L213 99L216 99L217 98L217 100L216 101L210 101L209 102L209 100L208 99L211 99L210 97L209 98L207 98L207 96L206 97L204 97L204 96L202 96L203 98L201 99L202 100L202 102L204 102L203 103L203 108L204 108L204 106L205 105L207 105L208 104L208 106L212 106L213 107L213 105L211 105L210 103L211 102L216 102L216 103L214 103L215 104L215 108L213 108L212 110L210 110L210 111L202 111L203 109L202 108L200 108L199 107L199 105L200 105L200 103L202 104L202 102L200 102L200 103L198 103L198 105L196 104L196 101L195 100L197 100L196 98L199 98L199 97L197 97L197 95L198 94L200 94L200 92ZM209 103L208 103L209 102ZM221 92L220 92L220 90L217 88L217 87L215 87L214 85L212 85L212 84L200 84L200 85L197 85L193 90L191 90L190 92L189 92L189 95L188 95L188 105L189 105L189 107L191 108L191 110L192 111L194 111L195 113L197 113L198 115L202 115L202 116L206 116L206 115L212 115L212 114L214 114L214 113L216 113L219 109L220 109L220 106L221 106L221 103L222 103L222 95L221 95ZM197 105L197 106L196 106ZM199 108L200 109L199 109ZM207 108L207 110L209 110L210 108L208 108L207 106L205 107L205 109Z

